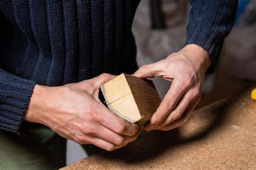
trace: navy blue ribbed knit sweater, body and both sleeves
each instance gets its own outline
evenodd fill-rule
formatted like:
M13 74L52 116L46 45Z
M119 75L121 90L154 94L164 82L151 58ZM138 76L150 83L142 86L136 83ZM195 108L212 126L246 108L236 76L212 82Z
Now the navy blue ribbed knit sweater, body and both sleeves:
M0 129L18 132L35 84L61 86L132 73L137 0L1 0ZM186 44L218 61L237 2L192 1Z

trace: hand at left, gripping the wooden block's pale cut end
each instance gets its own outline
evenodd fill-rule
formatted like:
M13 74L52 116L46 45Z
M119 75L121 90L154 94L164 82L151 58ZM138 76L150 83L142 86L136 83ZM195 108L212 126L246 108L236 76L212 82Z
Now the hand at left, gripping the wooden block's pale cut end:
M60 87L35 86L24 119L49 126L64 138L112 151L135 140L139 127L114 115L98 98L102 74Z

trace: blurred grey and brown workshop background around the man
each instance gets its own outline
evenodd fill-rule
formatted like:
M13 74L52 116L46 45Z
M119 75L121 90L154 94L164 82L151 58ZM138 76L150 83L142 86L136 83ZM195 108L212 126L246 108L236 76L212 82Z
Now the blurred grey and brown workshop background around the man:
M165 59L184 46L190 4L187 0L142 0L132 31L139 66ZM163 97L170 82L153 79ZM197 108L231 95L248 84L256 84L256 1L240 0L232 32L226 38L218 68L206 75ZM87 155L68 141L67 165Z

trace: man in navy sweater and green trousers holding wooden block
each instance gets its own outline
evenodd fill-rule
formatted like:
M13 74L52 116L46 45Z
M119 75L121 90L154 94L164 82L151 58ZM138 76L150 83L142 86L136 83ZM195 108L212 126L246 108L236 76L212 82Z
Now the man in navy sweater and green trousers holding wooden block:
M136 71L131 25L139 1L1 1L0 167L62 167L64 138L107 151L135 140L139 127L99 100L112 74L172 81L145 130L186 123L237 8L233 0L190 2L186 46Z

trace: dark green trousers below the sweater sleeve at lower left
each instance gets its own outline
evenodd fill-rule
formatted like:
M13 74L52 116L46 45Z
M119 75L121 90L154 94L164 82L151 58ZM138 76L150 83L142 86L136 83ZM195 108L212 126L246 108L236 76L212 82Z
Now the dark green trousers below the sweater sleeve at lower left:
M83 147L89 155L99 150ZM46 126L25 126L19 134L0 130L0 169L58 169L65 161L66 139Z

